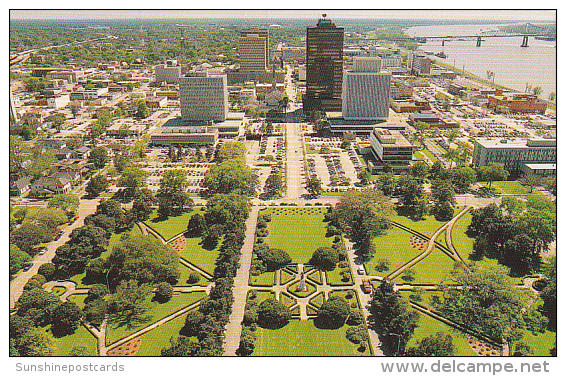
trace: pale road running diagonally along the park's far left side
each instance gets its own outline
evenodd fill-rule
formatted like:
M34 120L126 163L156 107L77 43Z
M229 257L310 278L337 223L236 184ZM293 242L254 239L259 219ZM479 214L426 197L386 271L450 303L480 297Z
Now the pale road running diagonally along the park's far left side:
M37 255L33 259L33 266L28 271L20 271L16 277L10 282L10 308L14 308L15 302L20 298L24 291L24 286L30 280L31 277L37 274L39 267L43 264L51 262L53 257L55 257L55 251L57 248L65 244L69 240L69 235L71 232L81 227L84 224L84 220L87 216L94 214L96 207L100 199L94 200L81 200L79 208L77 210L78 219L71 225L63 229L63 235L55 241L47 244L47 252L43 255Z

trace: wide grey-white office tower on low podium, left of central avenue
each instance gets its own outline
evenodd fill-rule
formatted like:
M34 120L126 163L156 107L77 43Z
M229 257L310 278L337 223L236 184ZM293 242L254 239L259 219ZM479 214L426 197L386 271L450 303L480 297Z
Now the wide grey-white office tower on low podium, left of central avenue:
M183 121L226 121L228 116L226 75L181 77L179 83Z

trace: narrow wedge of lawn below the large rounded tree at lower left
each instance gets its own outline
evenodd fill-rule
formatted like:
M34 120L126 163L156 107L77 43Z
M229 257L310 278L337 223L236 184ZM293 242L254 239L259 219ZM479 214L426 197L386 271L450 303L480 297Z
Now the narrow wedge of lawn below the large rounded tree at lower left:
M112 344L121 338L124 338L140 329L145 328L151 323L156 322L165 316L168 316L183 307L191 305L206 296L204 292L192 292L192 293L175 293L171 300L166 303L152 302L153 294L147 297L147 301L150 305L149 310L146 312L146 316L150 317L149 321L141 324L137 324L132 328L128 328L126 325L118 326L115 323L108 324L108 330L106 332L106 343Z

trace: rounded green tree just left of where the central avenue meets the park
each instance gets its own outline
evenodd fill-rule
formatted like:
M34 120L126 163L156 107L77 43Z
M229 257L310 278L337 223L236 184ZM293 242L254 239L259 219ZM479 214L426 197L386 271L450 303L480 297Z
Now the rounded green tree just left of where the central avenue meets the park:
M226 160L208 171L203 186L209 196L216 193L253 196L256 184L257 178L250 167L240 161Z

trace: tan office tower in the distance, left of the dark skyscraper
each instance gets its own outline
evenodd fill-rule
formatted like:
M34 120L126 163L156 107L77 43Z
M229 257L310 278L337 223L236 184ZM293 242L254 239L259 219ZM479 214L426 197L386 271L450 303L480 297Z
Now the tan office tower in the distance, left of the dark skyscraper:
M265 72L269 65L269 31L240 31L240 72Z

